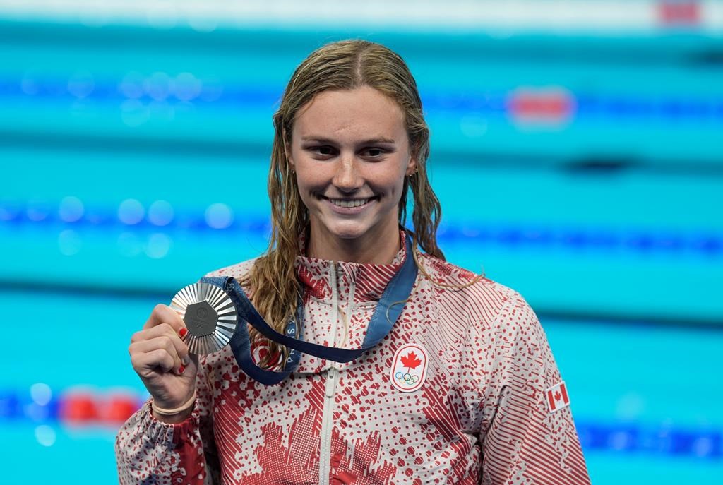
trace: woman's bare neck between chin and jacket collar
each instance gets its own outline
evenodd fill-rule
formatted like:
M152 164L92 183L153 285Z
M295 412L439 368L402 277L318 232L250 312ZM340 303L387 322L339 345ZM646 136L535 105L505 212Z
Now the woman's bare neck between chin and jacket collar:
M367 238L324 238L315 232L312 225L307 255L317 259L388 265L401 248L399 231L396 229L388 232L389 236L375 238L372 241L368 241Z

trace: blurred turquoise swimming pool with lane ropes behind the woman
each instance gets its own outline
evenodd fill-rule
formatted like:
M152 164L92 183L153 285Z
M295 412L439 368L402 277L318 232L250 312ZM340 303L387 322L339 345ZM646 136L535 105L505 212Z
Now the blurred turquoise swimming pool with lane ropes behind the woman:
M547 330L593 483L723 483L723 2L0 1L0 455L113 483L156 303L265 248L271 115L367 38L432 129L448 259Z

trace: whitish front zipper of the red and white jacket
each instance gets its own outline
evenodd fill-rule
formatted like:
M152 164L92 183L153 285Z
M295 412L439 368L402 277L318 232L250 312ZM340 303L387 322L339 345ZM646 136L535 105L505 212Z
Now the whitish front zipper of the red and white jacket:
M336 263L330 263L331 279L331 345L336 345L336 330L339 323L339 288L336 278ZM321 443L319 447L319 484L329 485L331 473L331 432L334 427L334 394L338 382L338 369L332 364L326 374L324 386L324 410L321 421Z

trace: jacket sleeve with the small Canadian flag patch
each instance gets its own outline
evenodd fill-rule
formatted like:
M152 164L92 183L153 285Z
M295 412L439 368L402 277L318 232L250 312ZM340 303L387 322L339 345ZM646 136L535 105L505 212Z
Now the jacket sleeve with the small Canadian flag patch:
M481 437L482 484L589 485L570 406L562 405L562 393L557 405L548 401L547 390L560 390L560 371L518 293L502 306L489 338L492 416Z

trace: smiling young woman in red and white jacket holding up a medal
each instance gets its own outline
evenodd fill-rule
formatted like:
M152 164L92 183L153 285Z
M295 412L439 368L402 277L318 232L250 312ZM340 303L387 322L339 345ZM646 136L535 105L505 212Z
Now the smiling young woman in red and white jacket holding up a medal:
M267 385L235 348L189 354L183 320L156 306L129 348L152 398L119 431L121 483L589 484L534 312L437 246L429 131L403 60L363 40L318 49L274 125L269 249L209 275L235 278L278 332L371 348L338 362L252 330L256 363L291 369Z

